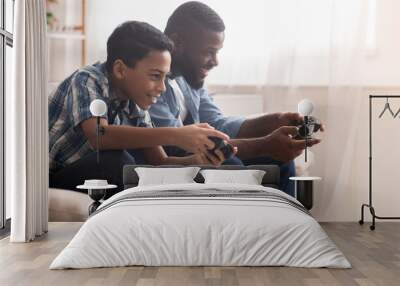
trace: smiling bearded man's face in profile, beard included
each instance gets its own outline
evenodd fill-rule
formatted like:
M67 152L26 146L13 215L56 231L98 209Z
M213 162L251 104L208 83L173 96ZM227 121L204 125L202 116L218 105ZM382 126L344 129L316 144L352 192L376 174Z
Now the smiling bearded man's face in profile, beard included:
M224 37L224 32L199 28L182 39L174 61L192 87L202 87L209 71L218 65L217 53L223 47Z

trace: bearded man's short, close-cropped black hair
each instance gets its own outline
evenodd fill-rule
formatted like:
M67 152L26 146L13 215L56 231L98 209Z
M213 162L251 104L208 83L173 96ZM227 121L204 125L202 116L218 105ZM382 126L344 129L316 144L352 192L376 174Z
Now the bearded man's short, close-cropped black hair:
M168 18L164 32L170 36L173 33L193 31L197 26L214 32L225 31L224 21L217 12L204 3L190 1L175 9Z

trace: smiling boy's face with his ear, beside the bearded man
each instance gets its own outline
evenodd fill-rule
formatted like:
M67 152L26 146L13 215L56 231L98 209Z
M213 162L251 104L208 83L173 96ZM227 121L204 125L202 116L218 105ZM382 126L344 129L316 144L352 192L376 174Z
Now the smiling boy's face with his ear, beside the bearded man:
M114 65L113 72L124 96L147 110L165 91L164 80L170 65L171 54L168 51L151 51L133 68L122 64L119 69Z

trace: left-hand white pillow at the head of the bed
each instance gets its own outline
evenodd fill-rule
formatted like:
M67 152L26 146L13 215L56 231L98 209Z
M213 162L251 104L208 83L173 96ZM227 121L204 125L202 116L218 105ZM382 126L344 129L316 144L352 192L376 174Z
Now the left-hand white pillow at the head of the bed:
M193 179L199 170L199 167L135 168L139 176L138 186L195 183Z

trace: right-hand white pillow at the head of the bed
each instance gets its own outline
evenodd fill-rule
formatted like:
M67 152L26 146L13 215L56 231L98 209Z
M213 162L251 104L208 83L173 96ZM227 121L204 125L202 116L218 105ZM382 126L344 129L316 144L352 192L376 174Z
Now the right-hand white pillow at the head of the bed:
M261 185L265 171L262 170L202 170L204 183L234 183Z

